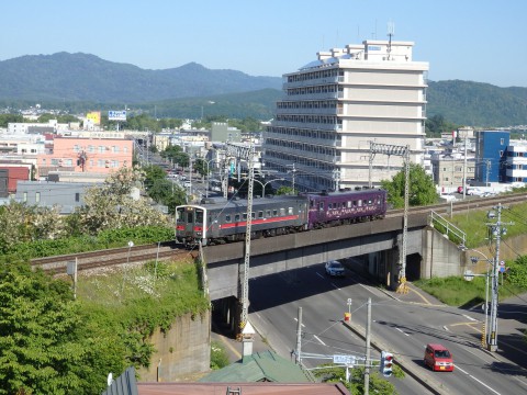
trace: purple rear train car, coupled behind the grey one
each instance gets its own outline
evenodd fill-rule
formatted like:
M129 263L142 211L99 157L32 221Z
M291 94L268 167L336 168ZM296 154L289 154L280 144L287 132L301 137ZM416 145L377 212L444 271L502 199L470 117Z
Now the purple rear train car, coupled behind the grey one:
M381 189L307 193L306 196L309 229L379 219L386 213L386 191Z

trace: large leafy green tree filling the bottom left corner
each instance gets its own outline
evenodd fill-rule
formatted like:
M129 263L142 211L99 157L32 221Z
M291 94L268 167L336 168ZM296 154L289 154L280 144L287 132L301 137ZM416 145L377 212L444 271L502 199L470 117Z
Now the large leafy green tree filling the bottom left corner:
M101 393L124 369L116 335L93 328L67 282L9 263L0 283L0 394Z

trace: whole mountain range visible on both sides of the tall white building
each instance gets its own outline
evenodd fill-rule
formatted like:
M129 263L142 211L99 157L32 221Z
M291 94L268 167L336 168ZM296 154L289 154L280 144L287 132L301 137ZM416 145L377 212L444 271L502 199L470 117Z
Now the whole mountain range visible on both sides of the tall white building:
M0 61L0 105L10 106L43 102L88 111L133 104L156 116L197 117L205 112L268 120L282 98L281 87L280 77L213 70L197 63L149 70L64 52ZM428 81L427 101L428 116L442 115L460 125L527 125L527 88Z

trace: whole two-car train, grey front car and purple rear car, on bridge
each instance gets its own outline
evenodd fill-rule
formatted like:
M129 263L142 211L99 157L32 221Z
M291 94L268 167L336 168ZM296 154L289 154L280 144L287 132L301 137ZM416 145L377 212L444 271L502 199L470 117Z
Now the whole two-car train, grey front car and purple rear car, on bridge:
M251 239L384 218L386 191L299 193L253 199ZM176 207L176 240L186 246L246 238L247 200L211 198Z

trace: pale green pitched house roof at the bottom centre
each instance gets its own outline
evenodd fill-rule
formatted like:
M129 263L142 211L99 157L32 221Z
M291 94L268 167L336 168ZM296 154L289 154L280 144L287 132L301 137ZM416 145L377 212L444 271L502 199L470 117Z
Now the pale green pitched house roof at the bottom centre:
M311 383L307 371L267 350L245 356L237 362L199 380L201 383Z

